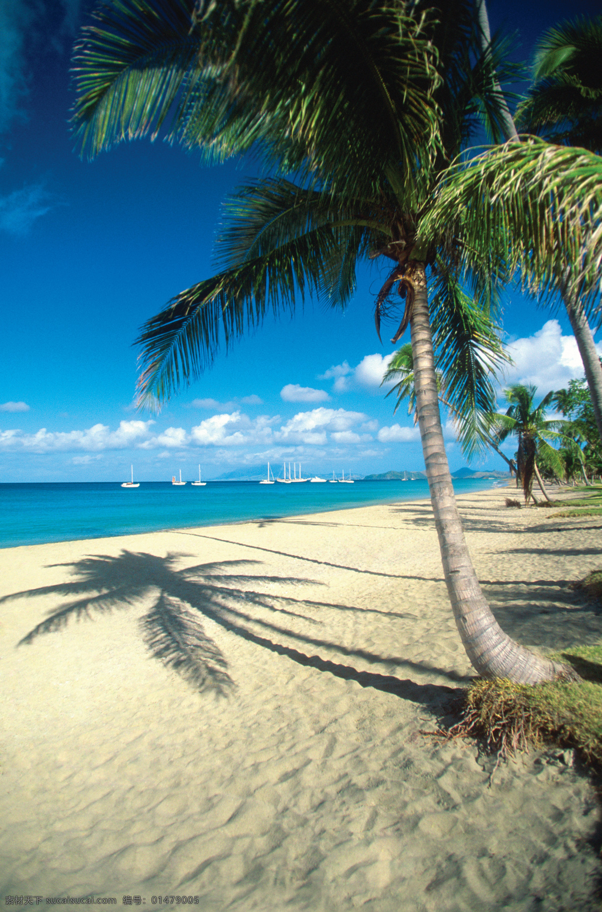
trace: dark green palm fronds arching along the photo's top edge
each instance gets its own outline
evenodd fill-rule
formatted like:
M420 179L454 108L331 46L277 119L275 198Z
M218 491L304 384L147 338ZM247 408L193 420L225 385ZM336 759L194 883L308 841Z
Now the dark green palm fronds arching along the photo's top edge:
M80 145L156 135L223 158L254 146L337 189L374 185L374 161L423 182L438 142L425 16L373 0L119 0L76 48ZM258 66L258 61L261 65ZM416 168L421 163L423 169Z

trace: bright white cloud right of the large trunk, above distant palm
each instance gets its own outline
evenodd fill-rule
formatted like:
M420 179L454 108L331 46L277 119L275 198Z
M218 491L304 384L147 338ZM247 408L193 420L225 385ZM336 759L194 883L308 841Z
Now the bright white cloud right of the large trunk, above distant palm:
M597 345L602 355L602 345ZM533 383L545 396L562 389L571 379L583 377L583 362L574 336L563 336L557 320L548 320L533 336L518 338L506 346L514 365L505 371L505 383Z

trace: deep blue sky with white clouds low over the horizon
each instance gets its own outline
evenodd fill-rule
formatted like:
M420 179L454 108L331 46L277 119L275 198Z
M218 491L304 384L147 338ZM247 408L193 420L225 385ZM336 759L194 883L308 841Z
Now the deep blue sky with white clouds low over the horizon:
M68 67L91 5L0 0L0 482L120 481L132 462L140 481L268 460L301 461L304 474L422 470L412 420L403 406L393 416L379 389L393 346L374 331L377 265L358 276L345 315L309 302L292 319L269 317L160 415L134 408L131 343L172 295L211 275L223 199L249 169L202 167L149 140L78 158ZM566 15L553 2L488 7L493 30L517 30L517 59ZM544 393L583 375L562 313L511 290L503 329L515 362L507 382ZM450 426L446 436L458 469ZM495 454L472 464L483 466L505 468Z

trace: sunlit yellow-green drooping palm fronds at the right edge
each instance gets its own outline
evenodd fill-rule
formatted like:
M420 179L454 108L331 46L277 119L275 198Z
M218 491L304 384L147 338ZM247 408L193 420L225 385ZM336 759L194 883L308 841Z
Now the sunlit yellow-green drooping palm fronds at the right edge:
M494 254L532 292L563 285L591 307L602 290L601 215L602 158L531 137L452 165L418 243L452 235L466 264Z

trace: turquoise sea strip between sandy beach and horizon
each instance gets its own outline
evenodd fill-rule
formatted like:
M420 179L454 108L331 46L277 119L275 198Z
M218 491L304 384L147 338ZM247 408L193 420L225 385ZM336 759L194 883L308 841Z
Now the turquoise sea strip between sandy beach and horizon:
M462 479L456 493L478 491L493 482ZM207 482L205 487L174 487L171 482L0 484L0 547L68 542L321 513L369 503L409 501L429 496L426 481L355 484L259 484Z

